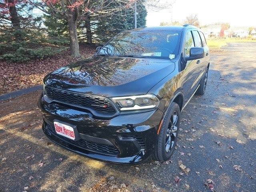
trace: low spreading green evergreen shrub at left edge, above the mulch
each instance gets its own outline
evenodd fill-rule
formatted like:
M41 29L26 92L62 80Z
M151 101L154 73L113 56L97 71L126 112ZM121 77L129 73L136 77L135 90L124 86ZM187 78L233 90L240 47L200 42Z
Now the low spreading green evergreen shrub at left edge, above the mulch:
M6 30L0 32L0 60L26 62L43 59L66 50L67 39L51 39L42 32L32 30Z

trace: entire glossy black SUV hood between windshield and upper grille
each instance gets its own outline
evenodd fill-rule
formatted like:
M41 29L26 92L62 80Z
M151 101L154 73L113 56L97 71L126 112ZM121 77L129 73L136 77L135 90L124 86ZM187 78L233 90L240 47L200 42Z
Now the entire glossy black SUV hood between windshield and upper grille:
M146 94L174 71L171 60L94 56L62 67L44 78L46 86L97 94Z

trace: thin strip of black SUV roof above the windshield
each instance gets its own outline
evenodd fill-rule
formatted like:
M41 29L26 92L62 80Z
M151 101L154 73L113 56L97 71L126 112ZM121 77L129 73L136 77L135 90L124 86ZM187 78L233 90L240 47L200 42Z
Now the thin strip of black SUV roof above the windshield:
M184 25L184 26L157 26L157 27L143 27L143 28L137 28L137 29L131 29L127 31L182 31L185 28L195 28L199 30L196 26L192 25Z

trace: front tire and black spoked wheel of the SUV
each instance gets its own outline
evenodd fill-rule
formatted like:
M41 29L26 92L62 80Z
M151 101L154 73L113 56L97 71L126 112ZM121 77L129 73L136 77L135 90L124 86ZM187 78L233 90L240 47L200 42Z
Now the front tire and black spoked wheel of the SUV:
M174 124L173 121L175 121ZM175 102L172 102L166 111L161 130L158 134L158 139L154 149L155 160L164 162L170 159L177 143L179 128L180 107Z

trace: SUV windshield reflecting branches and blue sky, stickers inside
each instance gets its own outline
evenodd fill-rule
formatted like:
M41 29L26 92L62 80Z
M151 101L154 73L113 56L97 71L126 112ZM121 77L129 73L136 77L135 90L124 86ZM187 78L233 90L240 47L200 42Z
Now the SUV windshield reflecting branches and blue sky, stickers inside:
M98 55L174 59L180 31L122 32L103 46Z

